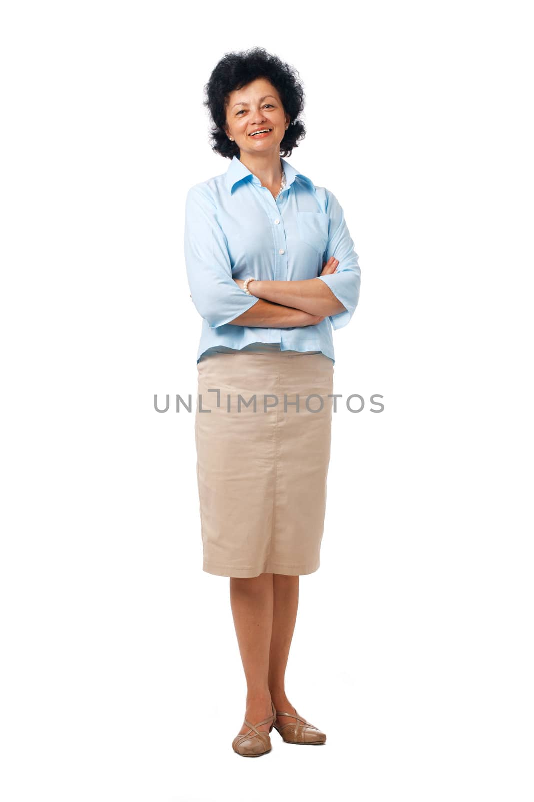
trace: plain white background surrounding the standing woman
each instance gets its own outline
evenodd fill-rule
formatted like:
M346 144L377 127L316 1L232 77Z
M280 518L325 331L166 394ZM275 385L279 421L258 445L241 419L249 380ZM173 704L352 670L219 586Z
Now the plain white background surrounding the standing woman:
M532 27L518 2L2 6L2 798L532 800ZM202 570L187 188L203 85L299 70L291 164L362 269L287 669L327 745L243 760ZM246 515L246 500L243 500Z

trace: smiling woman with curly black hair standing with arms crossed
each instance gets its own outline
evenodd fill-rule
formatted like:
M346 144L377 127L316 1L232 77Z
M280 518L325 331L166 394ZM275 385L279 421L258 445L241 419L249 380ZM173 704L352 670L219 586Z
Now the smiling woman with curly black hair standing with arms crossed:
M230 577L247 679L232 747L324 743L287 698L299 576L319 568L331 443L331 328L360 270L343 209L281 156L303 139L296 71L263 48L227 54L207 83L226 173L187 193L185 256L203 318L195 444L203 570ZM255 399L255 403L254 403Z

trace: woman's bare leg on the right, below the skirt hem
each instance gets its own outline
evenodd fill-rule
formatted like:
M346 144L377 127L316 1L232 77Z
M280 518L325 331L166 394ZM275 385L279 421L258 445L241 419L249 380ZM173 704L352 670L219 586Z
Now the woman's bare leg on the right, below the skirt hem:
M291 639L295 630L299 608L299 577L286 577L273 574L273 616L271 652L269 656L269 690L276 710L295 713L295 707L287 699L285 674ZM276 724L295 723L296 719L287 715L276 719Z

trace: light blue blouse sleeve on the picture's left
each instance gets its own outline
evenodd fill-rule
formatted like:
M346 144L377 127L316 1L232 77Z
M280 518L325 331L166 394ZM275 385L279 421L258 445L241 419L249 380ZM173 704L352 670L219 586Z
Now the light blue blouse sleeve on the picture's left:
M217 206L209 189L199 184L187 192L184 251L191 298L211 329L225 326L259 301L232 278Z

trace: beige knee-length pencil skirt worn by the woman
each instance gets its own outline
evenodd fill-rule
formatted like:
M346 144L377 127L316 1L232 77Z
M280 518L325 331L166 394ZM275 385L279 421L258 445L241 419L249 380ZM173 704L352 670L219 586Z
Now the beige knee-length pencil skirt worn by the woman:
M313 573L327 501L332 360L242 350L211 353L197 369L203 570Z

